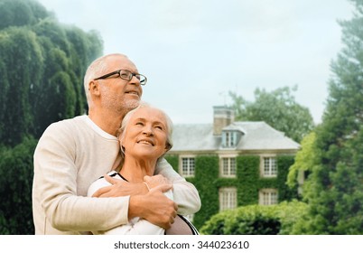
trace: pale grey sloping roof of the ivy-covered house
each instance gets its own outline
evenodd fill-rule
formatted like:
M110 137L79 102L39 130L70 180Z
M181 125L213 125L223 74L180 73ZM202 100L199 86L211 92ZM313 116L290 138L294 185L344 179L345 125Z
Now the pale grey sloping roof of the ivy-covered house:
M242 137L236 150L298 150L300 145L283 132L275 130L263 121L234 122L223 130L236 130ZM213 135L213 124L175 125L172 133L172 150L177 151L212 151L223 150L222 137ZM230 148L229 148L230 149Z

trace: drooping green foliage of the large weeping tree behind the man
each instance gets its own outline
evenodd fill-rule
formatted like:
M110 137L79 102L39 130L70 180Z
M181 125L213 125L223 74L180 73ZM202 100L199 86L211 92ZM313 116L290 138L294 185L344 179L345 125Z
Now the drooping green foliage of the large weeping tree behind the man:
M83 75L101 52L98 33L59 23L38 2L0 0L0 142L84 113Z

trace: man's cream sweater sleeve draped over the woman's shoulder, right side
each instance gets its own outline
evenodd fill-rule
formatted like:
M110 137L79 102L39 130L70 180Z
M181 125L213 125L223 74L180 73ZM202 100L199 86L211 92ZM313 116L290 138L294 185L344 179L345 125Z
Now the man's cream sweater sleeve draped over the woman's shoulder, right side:
M195 186L176 173L164 158L158 162L155 173L172 181L173 199L178 204L179 214L188 215L200 211L200 195Z

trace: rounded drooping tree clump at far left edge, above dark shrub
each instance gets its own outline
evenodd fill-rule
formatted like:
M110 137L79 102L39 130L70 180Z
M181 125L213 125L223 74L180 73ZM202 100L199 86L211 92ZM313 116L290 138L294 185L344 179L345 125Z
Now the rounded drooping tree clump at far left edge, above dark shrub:
M42 51L36 35L28 29L10 27L0 33L0 140L6 145L20 143L32 132L30 93L42 79Z

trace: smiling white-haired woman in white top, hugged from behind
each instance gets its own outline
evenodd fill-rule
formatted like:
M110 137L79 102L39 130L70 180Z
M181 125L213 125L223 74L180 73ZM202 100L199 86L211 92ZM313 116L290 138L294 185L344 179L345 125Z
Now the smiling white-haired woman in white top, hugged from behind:
M153 176L158 159L172 148L172 121L162 110L141 104L130 111L122 122L119 141L124 161L119 172L108 175L130 183L144 183L144 177ZM88 196L109 183L101 177L92 183ZM151 187L149 191L161 191L160 187ZM163 192L172 200L172 190ZM163 228L147 220L134 218L128 224L107 231L92 231L94 234L165 234ZM197 230L184 217L177 216L172 229L166 234L197 234Z

